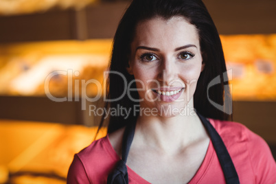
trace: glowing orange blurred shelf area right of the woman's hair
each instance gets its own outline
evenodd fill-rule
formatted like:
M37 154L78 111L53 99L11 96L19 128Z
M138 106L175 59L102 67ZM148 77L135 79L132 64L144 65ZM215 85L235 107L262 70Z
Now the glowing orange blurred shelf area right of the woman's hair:
M233 100L276 100L276 34L221 36Z

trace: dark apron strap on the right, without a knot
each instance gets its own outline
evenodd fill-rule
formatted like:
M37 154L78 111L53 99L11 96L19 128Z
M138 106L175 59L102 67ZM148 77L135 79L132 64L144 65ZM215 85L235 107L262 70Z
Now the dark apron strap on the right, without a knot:
M201 122L207 129L207 132L209 133L209 136L211 138L211 142L213 143L213 146L216 150L216 154L218 156L218 160L220 161L220 166L222 168L223 174L225 174L225 181L227 184L239 184L239 177L237 172L235 171L235 166L233 164L233 161L229 155L229 152L227 151L227 148L225 147L225 143L223 143L220 135L218 135L218 132L214 128L214 126L211 125L208 119L197 113L198 117L200 118Z

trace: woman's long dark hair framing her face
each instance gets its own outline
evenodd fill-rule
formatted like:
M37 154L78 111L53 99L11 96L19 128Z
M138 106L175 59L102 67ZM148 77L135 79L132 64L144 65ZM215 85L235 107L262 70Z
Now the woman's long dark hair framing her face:
M213 119L227 120L229 115L215 108L207 99L207 85L211 80L220 76L226 71L225 58L222 45L216 26L201 0L133 0L126 10L122 20L119 22L117 32L113 40L113 51L110 63L110 71L122 73L126 78L127 84L134 80L133 76L126 71L128 67L128 57L130 56L130 43L133 41L137 23L146 19L160 16L163 19L170 19L172 16L183 16L189 23L198 30L200 48L205 63L205 69L200 73L196 91L194 93L194 108L201 115ZM122 76L111 74L108 76L108 99L120 97L125 89ZM209 98L217 104L223 104L224 98L229 97L229 90L225 91L224 80L209 89ZM136 88L133 84L132 88ZM139 99L137 91L130 91L131 97ZM134 105L138 102L130 100L128 95L124 95L115 102L106 102L105 107L116 108L117 106L130 109L129 117L111 116L108 124L108 133L122 128L128 122L136 121ZM99 129L104 122L104 116Z

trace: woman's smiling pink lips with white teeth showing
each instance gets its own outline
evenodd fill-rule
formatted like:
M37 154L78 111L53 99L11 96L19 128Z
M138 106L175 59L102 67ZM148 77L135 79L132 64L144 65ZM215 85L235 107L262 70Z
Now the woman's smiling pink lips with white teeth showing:
M178 99L181 95L181 92L185 88L164 88L164 89L152 89L156 95L164 102L173 102L174 100Z

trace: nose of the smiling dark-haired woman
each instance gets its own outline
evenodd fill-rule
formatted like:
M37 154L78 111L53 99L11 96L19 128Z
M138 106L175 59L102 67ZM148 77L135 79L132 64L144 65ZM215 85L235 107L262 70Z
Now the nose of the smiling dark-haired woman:
M174 60L165 59L159 66L158 80L165 86L170 86L177 79L178 69Z

